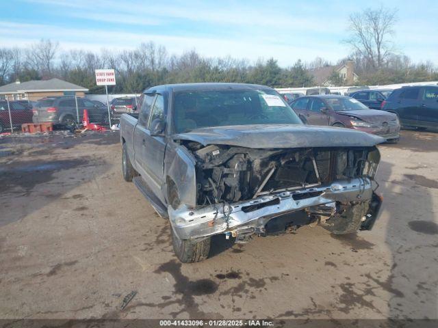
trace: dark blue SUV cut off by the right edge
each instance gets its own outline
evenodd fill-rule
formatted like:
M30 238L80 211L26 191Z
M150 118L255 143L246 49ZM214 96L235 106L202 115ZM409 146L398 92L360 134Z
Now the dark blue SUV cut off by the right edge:
M433 128L438 126L438 87L402 87L382 102L382 109L396 113L403 126Z

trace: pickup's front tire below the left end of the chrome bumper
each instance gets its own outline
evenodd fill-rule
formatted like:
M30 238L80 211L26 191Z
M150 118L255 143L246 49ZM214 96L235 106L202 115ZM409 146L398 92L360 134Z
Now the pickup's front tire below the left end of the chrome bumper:
M180 239L172 230L173 251L177 258L183 263L201 262L208 257L210 251L211 237L202 241Z

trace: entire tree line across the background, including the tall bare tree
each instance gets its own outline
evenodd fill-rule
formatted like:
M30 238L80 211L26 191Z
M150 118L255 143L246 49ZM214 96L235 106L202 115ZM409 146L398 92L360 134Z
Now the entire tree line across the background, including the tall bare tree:
M333 66L331 85L344 85L335 67L347 60L355 62L359 75L356 85L385 85L417 81L437 81L438 69L432 62L413 63L396 50L394 24L396 10L380 7L350 15L348 37L350 55L331 63L321 57L310 62L296 61L282 68L274 58L258 60L233 57L204 57L195 50L170 55L165 46L142 43L137 49L100 53L83 50L63 51L57 42L40 40L25 49L0 48L0 85L58 77L103 93L95 85L94 70L114 68L117 85L114 93L138 93L147 87L166 83L240 82L271 87L310 87L311 70Z

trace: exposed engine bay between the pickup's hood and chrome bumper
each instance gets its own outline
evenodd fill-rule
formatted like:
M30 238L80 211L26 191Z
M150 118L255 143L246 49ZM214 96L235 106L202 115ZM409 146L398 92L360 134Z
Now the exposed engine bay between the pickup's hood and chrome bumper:
M258 150L188 143L196 157L197 204L239 202L335 180L372 177L375 148Z

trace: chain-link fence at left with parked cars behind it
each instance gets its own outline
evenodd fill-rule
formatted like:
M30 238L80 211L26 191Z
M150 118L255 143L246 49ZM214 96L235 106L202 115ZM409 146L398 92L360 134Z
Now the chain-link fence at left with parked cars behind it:
M88 95L87 95L88 96ZM20 133L23 124L52 124L55 129L80 128L83 113L88 112L90 123L111 128L120 122L123 113L137 111L138 96L112 95L110 103L97 97L53 96L40 100L0 99L0 133Z

